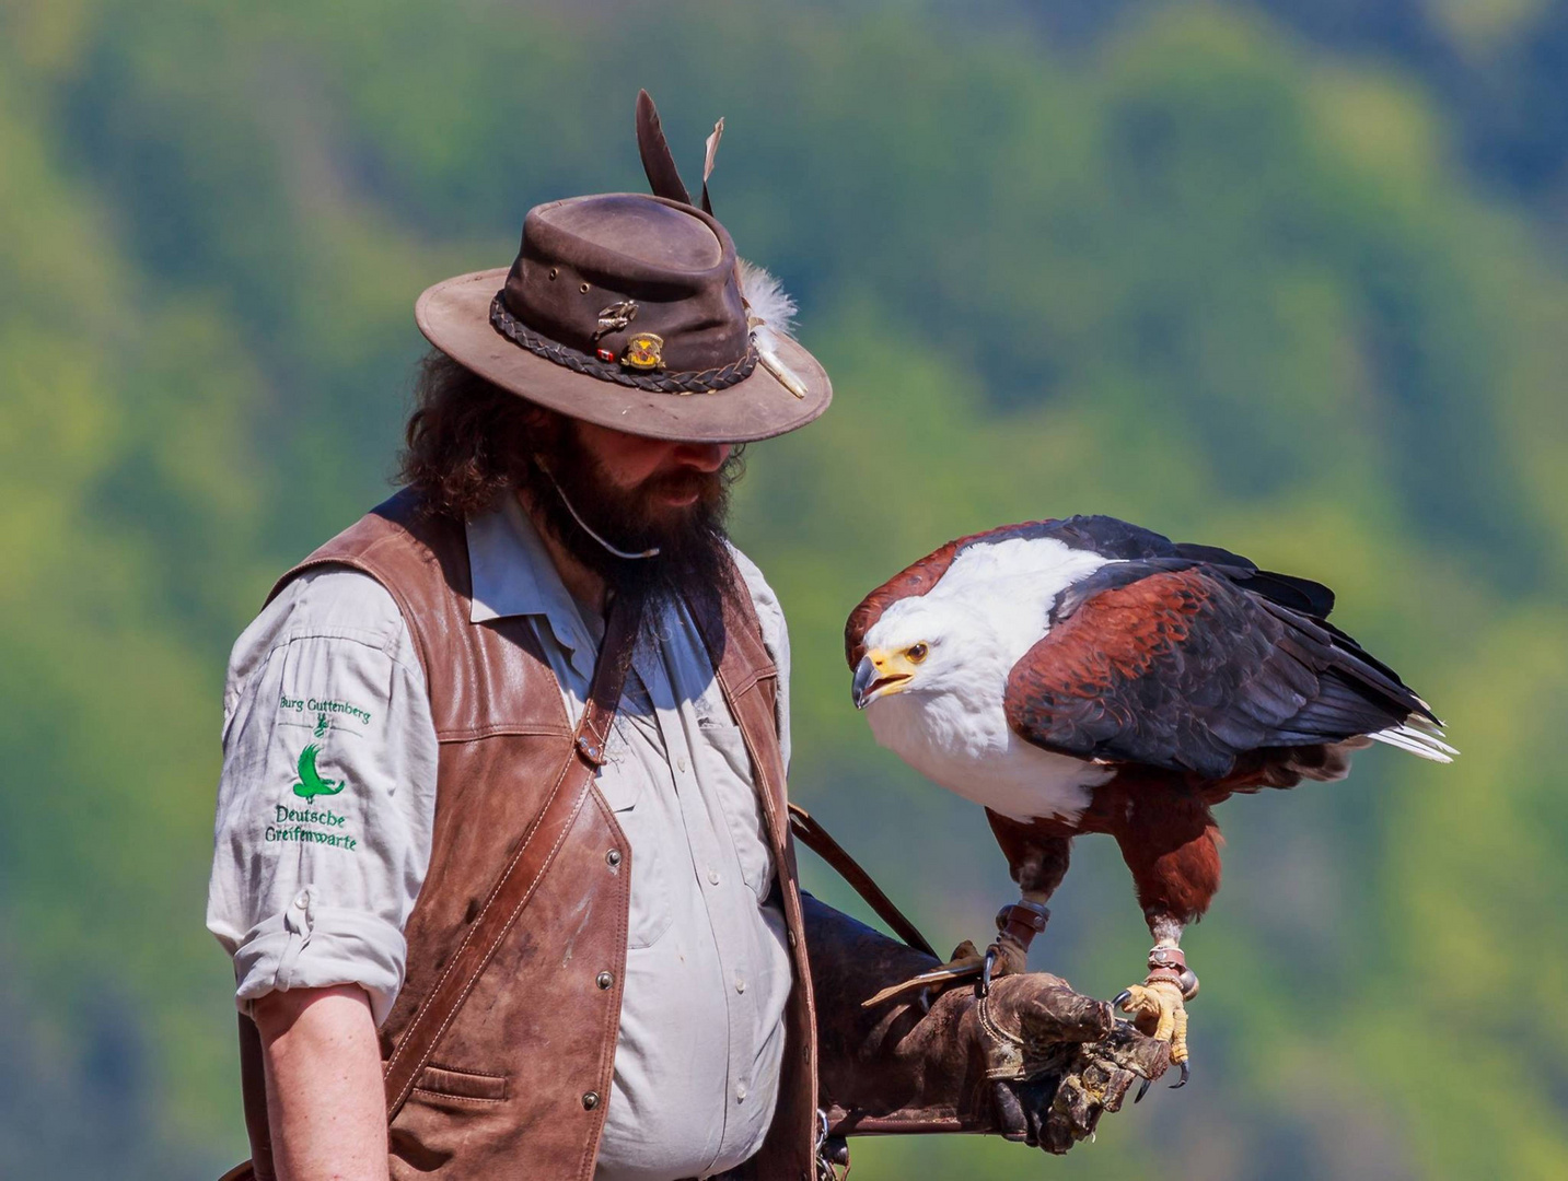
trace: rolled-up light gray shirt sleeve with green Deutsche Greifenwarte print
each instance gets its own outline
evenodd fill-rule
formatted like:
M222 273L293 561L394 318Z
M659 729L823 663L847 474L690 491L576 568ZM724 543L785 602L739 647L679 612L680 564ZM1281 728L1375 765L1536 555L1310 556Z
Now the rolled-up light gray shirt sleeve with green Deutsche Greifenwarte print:
M359 984L386 1020L430 865L436 752L408 628L367 575L303 575L235 644L207 927L243 1012Z

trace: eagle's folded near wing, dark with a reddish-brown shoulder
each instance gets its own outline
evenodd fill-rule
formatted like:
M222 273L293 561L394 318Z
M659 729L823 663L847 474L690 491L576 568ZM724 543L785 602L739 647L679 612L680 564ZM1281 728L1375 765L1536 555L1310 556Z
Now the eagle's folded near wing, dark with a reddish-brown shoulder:
M1005 700L1047 750L1218 780L1245 752L1436 722L1342 631L1203 562L1115 562L1052 614Z

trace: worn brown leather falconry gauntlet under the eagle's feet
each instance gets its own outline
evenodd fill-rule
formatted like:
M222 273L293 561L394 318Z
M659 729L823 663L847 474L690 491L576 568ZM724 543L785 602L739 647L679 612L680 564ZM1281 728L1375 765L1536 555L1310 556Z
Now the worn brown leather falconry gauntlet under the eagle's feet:
M833 1136L993 1132L1063 1153L1157 1078L1163 1043L1046 973L919 999L861 1002L931 957L803 894L817 995L822 1103Z

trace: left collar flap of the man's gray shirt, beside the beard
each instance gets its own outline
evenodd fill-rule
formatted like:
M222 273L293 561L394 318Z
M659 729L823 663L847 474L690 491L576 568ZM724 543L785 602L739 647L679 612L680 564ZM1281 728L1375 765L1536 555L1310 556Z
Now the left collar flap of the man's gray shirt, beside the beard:
M495 507L470 517L467 542L474 583L469 622L543 616L555 642L571 653L572 667L591 675L596 645L517 497L508 492Z

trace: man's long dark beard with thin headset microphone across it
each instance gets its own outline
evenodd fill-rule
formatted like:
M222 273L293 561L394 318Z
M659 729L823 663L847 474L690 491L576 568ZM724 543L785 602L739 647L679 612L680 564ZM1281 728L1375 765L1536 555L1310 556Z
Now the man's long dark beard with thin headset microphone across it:
M514 481L536 520L561 547L616 594L641 595L644 620L652 623L677 600L695 609L713 609L729 589L732 562L724 522L729 487L739 475L737 454L718 471L673 471L633 489L618 489L571 423L561 421L549 446L519 465ZM691 492L698 498L685 507L654 507L665 493ZM615 548L626 553L659 550L659 554L618 558L577 522L572 509Z

